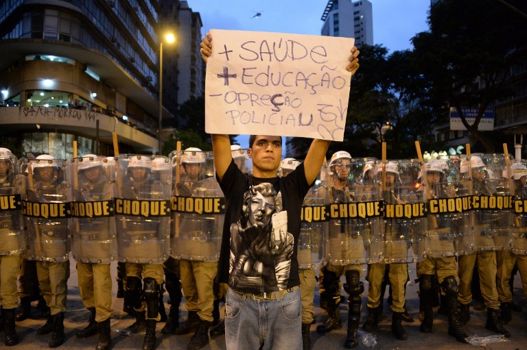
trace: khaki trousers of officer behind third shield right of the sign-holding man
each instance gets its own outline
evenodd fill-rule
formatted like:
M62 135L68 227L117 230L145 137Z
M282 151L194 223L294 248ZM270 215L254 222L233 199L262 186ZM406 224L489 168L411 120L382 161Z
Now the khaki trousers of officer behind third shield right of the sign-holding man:
M384 273L386 273L386 264L383 262L368 265L368 274L366 275L366 280L369 283L368 302L366 303L368 308L377 308L381 303L381 286ZM404 312L404 287L408 282L408 264L390 264L388 277L392 286L392 311Z

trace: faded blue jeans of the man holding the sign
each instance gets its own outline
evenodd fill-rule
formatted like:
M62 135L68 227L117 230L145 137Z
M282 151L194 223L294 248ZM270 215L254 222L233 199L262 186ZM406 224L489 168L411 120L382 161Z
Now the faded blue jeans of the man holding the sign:
M227 350L301 350L300 289L280 301L253 299L230 290L225 303Z

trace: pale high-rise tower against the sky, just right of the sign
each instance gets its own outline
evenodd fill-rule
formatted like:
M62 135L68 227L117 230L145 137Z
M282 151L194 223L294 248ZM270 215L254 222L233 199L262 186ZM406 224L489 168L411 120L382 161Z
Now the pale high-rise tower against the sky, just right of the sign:
M373 11L368 0L329 0L320 18L320 34L355 38L355 46L373 45Z

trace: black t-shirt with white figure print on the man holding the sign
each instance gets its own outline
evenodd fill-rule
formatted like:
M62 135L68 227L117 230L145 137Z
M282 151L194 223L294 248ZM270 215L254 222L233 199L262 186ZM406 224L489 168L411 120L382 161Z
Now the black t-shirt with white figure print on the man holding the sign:
M301 164L286 177L258 178L231 162L220 182L225 221L218 281L239 292L300 284L296 248L309 187Z

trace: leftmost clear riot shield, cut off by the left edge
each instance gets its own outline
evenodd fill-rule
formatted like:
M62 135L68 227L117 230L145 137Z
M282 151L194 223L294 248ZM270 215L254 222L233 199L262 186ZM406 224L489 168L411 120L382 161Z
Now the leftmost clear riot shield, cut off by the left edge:
M20 255L24 251L23 190L15 155L8 149L0 149L0 255Z

